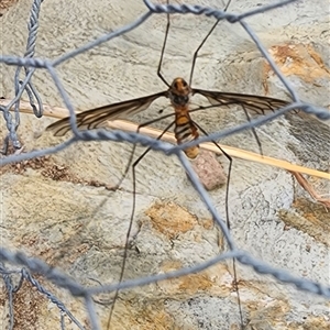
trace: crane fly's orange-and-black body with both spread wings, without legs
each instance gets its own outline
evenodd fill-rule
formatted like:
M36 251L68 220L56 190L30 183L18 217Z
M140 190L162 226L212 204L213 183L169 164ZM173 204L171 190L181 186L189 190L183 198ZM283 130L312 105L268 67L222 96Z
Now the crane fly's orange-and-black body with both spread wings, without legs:
M143 110L146 110L153 101L161 97L169 99L175 112L174 132L178 144L197 140L199 136L198 127L190 117L190 112L202 110L204 107L189 110L191 96L201 95L208 99L211 107L223 107L239 105L245 110L249 109L257 114L265 114L266 110L285 107L287 101L234 92L211 91L191 88L184 78L175 78L167 90L136 98L123 102L112 103L109 106L87 110L77 114L77 127L80 130L95 130L101 128L108 120L127 119ZM163 119L163 118L162 118ZM160 120L160 119L157 119ZM51 124L47 130L52 131L55 136L63 136L72 129L69 118L64 118ZM191 146L184 150L189 158L198 155L198 146Z

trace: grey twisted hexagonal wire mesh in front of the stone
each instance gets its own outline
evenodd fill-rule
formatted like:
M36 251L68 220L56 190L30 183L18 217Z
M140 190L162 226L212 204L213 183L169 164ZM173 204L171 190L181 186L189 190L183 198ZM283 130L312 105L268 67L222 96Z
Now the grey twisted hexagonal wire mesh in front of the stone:
M8 155L1 158L1 166L16 163L21 161L31 160L34 157L41 157L57 153L62 150L67 148L69 145L76 144L78 141L114 141L114 142L128 142L131 144L140 144L143 146L151 147L154 151L160 151L166 155L175 155L179 161L182 167L189 175L191 184L196 191L198 193L200 200L206 205L208 211L211 213L213 221L221 229L223 237L228 246L230 248L230 252L223 252L215 257L210 257L208 261L199 263L198 265L194 265L190 267L184 267L175 272L166 272L165 274L158 274L153 276L143 276L136 279L124 280L122 283L111 284L111 285L95 285L95 286L85 286L82 284L77 283L69 274L65 274L57 268L52 267L44 263L41 258L37 257L29 257L24 254L24 252L13 252L9 248L2 246L0 249L0 274L2 276L3 287L6 288L6 297L1 298L0 301L4 301L7 304L7 312L8 312L8 327L9 329L14 329L15 326L19 324L18 317L20 312L15 309L15 304L13 300L15 299L15 295L18 292L24 288L24 285L29 283L30 290L32 288L36 289L41 295L44 295L46 299L52 301L58 309L58 328L66 329L65 319L69 319L72 323L76 324L78 329L101 329L102 326L99 320L99 316L96 311L96 306L94 298L96 295L103 293L113 293L118 289L140 287L152 283L158 283L163 279L176 278L178 276L196 274L208 267L216 265L224 260L235 258L239 263L243 265L248 265L253 268L258 274L272 275L276 279L282 283L287 283L295 286L297 289L302 292L309 292L326 298L330 298L330 287L321 285L320 283L309 280L299 276L295 276L286 271L268 265L267 263L261 262L250 253L241 251L237 248L237 244L229 232L222 217L217 211L216 206L213 205L210 196L206 193L202 185L199 183L196 174L191 169L190 163L183 155L182 151L187 148L187 146L197 145L205 141L215 141L219 139L223 139L228 135L242 132L243 130L251 129L254 127L262 125L272 121L273 119L283 116L292 109L300 109L306 113L311 113L319 118L320 120L329 119L329 111L327 109L319 108L315 105L302 102L299 99L299 96L295 91L295 89L289 85L285 76L280 73L280 70L275 65L273 58L268 55L265 47L260 42L258 37L255 35L250 25L245 22L245 19L255 16L260 13L271 11L275 8L290 6L296 1L279 1L274 2L267 6L261 6L256 9L246 11L242 14L234 14L231 12L224 12L219 9L208 8L204 6L189 6L189 4L154 4L147 0L143 1L145 4L145 13L139 16L133 22L128 23L127 25L119 28L110 33L107 33L95 41L87 43L76 50L66 53L53 61L51 59L42 59L34 57L35 54L35 45L38 32L38 16L41 13L42 6L46 6L47 2L43 3L43 1L33 1L33 6L31 8L30 21L29 21L29 34L28 34L28 43L26 43L26 52L23 56L13 56L13 55L1 55L0 63L7 66L16 66L16 72L14 75L14 90L15 96L12 98L11 102L2 107L1 112L3 114L3 119L7 125L8 133L4 136L3 143L3 154L8 152L9 146L13 146L14 150L21 148L21 142L18 136L20 129L20 99L24 91L29 96L31 107L33 109L34 114L37 118L43 116L43 103L42 98L37 92L37 86L33 85L33 75L38 69L46 69L51 75L65 107L69 110L70 113L70 123L74 136L68 139L63 143L58 143L53 147L47 147L43 150L32 151L29 153L20 153L15 155ZM283 82L285 88L287 89L292 102L289 106L284 107L283 109L265 116L263 118L252 120L251 122L237 125L232 129L224 130L221 132L212 133L208 136L202 136L198 141L185 143L182 145L173 146L160 140L155 140L143 134L139 133L127 133L122 131L78 131L76 127L76 117L74 111L74 106L72 103L68 94L66 92L65 86L61 81L56 67L63 65L65 62L74 58L75 56L82 54L89 50L97 47L106 42L109 42L118 36L124 35L125 33L136 29L139 25L143 24L151 16L156 14L195 14L195 15L206 15L215 18L216 20L228 21L231 24L240 24L248 35L251 37L271 65L274 73L277 75L279 80ZM21 70L24 70L24 79L20 80ZM11 110L12 108L13 111ZM1 188L2 190L3 188ZM75 312L70 310L70 308L66 307L66 305L54 294L52 293L52 288L45 288L36 278L42 277L43 279L48 280L55 287L61 289L66 289L75 299L81 299L84 301L86 308L86 316L88 319L87 326L82 324L75 317ZM142 327L143 328L143 327Z

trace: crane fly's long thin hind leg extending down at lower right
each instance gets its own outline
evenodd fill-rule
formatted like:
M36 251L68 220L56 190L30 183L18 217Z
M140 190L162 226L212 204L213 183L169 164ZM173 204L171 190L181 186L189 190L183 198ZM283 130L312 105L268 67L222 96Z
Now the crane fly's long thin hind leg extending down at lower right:
M194 121L194 124L205 134L209 135L204 128L201 128L198 123ZM216 142L212 140L212 143L221 151L221 153L228 158L229 161L229 167L228 167L228 178L227 178L227 187L226 187L226 222L227 227L230 230L230 220L229 220L229 186L230 186L230 176L231 176L231 168L232 168L232 157ZM237 274L237 265L235 260L232 260L233 263L233 275L234 275L234 288L238 296L238 302L239 302L239 314L241 319L241 328L243 329L243 312L242 312L242 306L241 306L241 297L240 297L240 290L239 290L239 283L238 283L238 274Z

